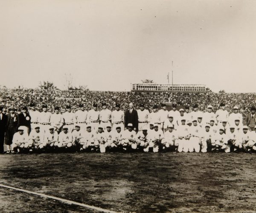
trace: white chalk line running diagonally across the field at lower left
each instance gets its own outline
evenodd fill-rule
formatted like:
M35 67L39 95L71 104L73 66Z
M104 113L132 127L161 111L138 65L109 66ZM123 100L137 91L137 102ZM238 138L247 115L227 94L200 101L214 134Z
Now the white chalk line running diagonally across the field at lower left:
M26 193L33 194L33 195L38 195L38 196L41 196L41 197L62 201L64 203L68 203L68 204L75 204L75 205L78 205L78 206L87 207L87 208L90 208L90 209L93 209L93 210L97 210L97 211L101 211L101 212L116 213L115 211L106 210L106 209L102 209L102 208L99 208L99 207L90 206L90 205L87 205L87 204L78 203L78 202L75 202L75 201L58 198L58 197L55 197L55 196L49 196L49 195L45 195L45 194L42 194L42 193L32 192L32 191L29 191L29 190L24 190L24 189L19 189L19 188L15 188L15 187L10 187L10 186L6 186L6 185L3 185L3 184L0 184L0 187L5 187L5 188L21 191L21 192L26 192Z

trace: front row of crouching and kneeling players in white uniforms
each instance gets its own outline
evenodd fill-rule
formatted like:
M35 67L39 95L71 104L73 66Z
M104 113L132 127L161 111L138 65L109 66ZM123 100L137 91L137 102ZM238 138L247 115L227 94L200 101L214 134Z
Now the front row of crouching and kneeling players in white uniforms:
M168 131L163 133L158 124L150 125L149 129L135 132L133 125L128 124L127 130L116 127L111 130L111 126L104 131L99 127L97 131L92 131L87 126L86 131L81 130L76 125L76 130L68 132L67 127L58 133L54 127L49 131L40 131L40 127L35 127L29 135L22 127L19 127L12 140L12 153L21 150L51 150L51 149L70 149L76 151L99 151L105 153L106 150L141 150L144 152L159 152L161 150L173 150L175 152L203 152L223 150L230 151L245 150L251 152L256 150L256 127L255 131L248 131L247 126L243 126L242 131L230 127L224 131L220 128L218 132L212 131L211 126L206 124L204 128L193 121L189 127L182 121L182 124L174 129L174 125L169 125ZM10 153L10 151L7 151Z

